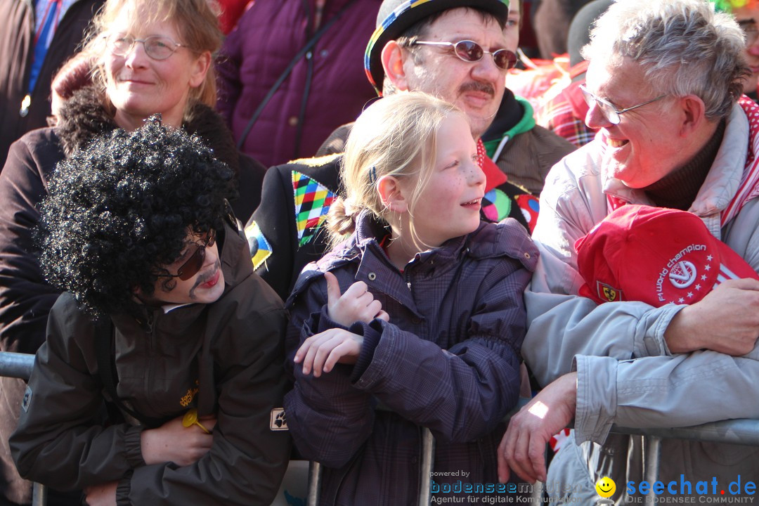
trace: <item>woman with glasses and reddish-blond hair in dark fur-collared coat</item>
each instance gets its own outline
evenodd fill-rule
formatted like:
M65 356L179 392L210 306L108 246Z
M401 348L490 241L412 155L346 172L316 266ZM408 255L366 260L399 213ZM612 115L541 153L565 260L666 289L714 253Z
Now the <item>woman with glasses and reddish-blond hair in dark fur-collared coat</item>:
M158 114L163 125L200 137L238 174L239 218L247 219L241 209L250 214L257 206L265 168L240 155L213 111L213 55L222 44L216 11L213 0L108 0L83 49L92 84L65 102L56 127L11 146L0 174L0 349L34 353L45 341L59 291L43 279L36 258L38 204L55 165L97 137L134 130ZM0 457L9 455L23 395L23 382L0 379ZM11 467L10 457L3 460Z

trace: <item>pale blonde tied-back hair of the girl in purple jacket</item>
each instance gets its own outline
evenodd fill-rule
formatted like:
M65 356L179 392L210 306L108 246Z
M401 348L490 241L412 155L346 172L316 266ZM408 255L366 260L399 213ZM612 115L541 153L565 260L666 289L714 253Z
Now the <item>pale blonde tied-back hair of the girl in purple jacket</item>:
M361 113L340 167L344 195L329 207L326 227L332 246L355 230L354 218L362 209L392 222L376 189L386 175L417 177L409 198L410 233L415 244L425 246L413 228L414 208L435 168L437 130L452 114L466 118L455 106L420 91L386 96Z

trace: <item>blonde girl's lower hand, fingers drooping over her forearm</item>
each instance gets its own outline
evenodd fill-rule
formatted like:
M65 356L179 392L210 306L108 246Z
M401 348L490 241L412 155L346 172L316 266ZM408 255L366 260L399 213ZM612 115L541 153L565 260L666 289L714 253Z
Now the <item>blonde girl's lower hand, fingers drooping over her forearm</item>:
M307 338L295 353L294 363L303 363L303 373L318 378L322 372L329 372L335 363L356 363L361 354L361 335L342 328L330 328Z

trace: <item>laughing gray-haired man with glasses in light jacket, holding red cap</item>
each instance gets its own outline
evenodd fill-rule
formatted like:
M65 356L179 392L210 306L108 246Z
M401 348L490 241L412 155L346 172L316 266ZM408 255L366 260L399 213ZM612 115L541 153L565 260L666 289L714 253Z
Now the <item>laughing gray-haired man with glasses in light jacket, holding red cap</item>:
M609 435L613 423L759 418L759 281L726 281L698 303L684 297L658 308L594 283L615 301L597 306L578 296L574 248L613 209L647 204L693 212L759 268L759 107L741 96L744 48L732 17L706 0L625 0L597 20L583 93L585 122L600 132L550 171L533 236L540 260L525 294L522 352L546 388L512 420L500 479L510 467L558 482L553 495L591 504L594 483L609 476L618 504L643 501L641 439ZM720 267L663 263L661 282L688 284L692 294L710 289L701 276ZM656 289L657 278L642 282ZM573 437L546 476L545 443L573 416ZM759 476L759 449L665 440L656 493L720 498L739 475Z

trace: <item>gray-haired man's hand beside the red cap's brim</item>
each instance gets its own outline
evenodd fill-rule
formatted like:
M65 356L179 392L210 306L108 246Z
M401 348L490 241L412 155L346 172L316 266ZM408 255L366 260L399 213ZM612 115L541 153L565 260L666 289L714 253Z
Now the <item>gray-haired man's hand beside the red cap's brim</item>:
M672 353L707 349L740 357L759 338L759 281L730 279L669 322L664 339Z

